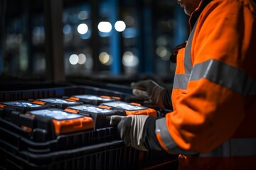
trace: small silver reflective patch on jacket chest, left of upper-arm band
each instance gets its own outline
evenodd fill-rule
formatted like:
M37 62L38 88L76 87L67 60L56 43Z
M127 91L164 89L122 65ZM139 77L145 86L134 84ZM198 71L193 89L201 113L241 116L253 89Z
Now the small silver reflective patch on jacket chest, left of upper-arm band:
M190 76L191 76L190 74L175 74L173 89L186 90Z

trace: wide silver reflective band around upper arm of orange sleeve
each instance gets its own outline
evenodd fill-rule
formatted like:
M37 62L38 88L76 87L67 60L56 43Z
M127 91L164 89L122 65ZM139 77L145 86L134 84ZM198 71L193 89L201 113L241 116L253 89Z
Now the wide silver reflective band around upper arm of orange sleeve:
M191 80L206 78L243 96L256 95L256 79L249 77L242 69L217 60L196 64L191 72Z

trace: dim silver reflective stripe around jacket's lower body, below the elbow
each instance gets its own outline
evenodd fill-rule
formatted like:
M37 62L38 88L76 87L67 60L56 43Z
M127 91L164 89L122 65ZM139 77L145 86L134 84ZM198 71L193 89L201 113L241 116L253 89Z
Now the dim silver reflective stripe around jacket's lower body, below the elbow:
M250 157L256 156L256 138L230 139L211 152L198 157Z

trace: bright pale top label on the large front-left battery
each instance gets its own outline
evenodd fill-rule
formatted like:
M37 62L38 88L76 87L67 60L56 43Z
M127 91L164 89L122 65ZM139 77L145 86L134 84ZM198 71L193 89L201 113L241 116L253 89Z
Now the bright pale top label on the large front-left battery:
M83 115L67 113L65 111L61 111L59 109L43 109L38 111L30 111L29 113L33 115L43 115L49 118L53 118L55 120L67 120L67 119L74 119L74 118L82 118Z

